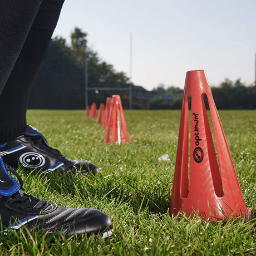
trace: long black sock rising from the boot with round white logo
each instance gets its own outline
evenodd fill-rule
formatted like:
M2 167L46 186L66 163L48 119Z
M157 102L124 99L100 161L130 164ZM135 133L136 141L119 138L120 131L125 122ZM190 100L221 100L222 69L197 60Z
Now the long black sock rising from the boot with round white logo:
M0 142L11 140L27 125L33 80L56 27L64 0L43 0L35 21L0 96Z

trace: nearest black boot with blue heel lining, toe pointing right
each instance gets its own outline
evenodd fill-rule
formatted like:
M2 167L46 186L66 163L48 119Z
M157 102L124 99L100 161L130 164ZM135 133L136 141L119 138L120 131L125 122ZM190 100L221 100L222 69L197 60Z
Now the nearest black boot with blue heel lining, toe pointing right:
M16 175L19 183L8 171ZM6 169L0 156L0 221L6 232L26 225L29 232L43 230L54 237L101 234L109 237L109 216L95 209L63 208L24 193L22 180L12 169Z

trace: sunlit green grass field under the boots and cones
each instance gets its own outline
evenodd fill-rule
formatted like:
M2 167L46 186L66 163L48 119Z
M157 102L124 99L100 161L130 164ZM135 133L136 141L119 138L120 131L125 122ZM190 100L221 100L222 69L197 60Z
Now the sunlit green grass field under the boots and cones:
M219 111L245 203L256 208L256 111ZM255 218L210 223L170 218L180 111L125 111L130 143L105 145L105 128L85 111L29 110L28 124L73 159L100 173L48 176L19 170L29 194L65 207L96 208L111 216L114 234L50 242L26 229L0 233L0 255L256 255ZM157 158L168 154L170 163Z

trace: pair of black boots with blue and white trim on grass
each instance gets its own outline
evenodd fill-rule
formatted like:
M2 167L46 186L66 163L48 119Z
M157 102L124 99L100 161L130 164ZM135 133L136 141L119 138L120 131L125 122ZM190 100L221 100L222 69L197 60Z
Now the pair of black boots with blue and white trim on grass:
M48 234L72 235L86 233L111 235L112 222L108 215L96 209L63 208L24 193L23 182L13 168L95 175L99 168L86 161L71 160L50 147L40 131L27 126L21 136L0 145L0 216L6 230L26 225L29 231L42 229ZM9 173L13 173L18 181Z

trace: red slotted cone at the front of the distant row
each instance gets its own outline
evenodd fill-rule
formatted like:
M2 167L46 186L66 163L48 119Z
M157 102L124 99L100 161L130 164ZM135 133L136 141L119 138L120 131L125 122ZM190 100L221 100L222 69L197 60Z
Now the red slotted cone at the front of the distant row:
M110 137L111 127L112 137ZM124 144L130 141L119 95L112 96L109 120L107 120L105 143L110 141L116 142L116 144Z

